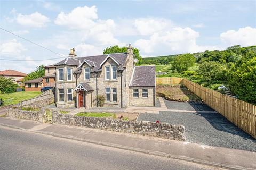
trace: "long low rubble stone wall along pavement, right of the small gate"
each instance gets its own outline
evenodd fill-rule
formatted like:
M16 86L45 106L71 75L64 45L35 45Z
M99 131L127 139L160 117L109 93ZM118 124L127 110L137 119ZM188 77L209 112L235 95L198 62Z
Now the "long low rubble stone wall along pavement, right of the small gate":
M185 141L185 127L166 123L124 121L113 118L84 117L53 112L53 124L83 126L101 130L149 135L159 138Z

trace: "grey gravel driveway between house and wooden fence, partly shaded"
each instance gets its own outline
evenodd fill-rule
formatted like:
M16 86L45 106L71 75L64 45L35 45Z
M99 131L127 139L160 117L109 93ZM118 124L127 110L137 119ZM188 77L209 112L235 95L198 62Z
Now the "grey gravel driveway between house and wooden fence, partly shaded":
M212 111L211 108L200 103L165 100L165 105L168 109ZM219 113L159 111L159 114L139 114L138 117L138 121L155 122L156 120L184 125L188 142L256 152L256 140Z

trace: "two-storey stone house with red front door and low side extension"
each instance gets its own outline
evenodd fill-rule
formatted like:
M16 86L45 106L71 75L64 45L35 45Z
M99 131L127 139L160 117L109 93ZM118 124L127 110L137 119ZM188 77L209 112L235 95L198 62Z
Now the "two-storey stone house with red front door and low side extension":
M56 66L57 107L97 107L97 96L104 96L104 107L155 106L155 66L135 66L133 49L127 53L69 57Z

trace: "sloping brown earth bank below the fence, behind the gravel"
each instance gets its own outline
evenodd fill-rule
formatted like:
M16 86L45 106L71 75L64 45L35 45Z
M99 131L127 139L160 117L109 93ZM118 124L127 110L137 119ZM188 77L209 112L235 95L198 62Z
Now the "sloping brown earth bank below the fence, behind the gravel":
M158 96L162 96L166 100L171 101L202 101L183 85L157 85L156 92Z

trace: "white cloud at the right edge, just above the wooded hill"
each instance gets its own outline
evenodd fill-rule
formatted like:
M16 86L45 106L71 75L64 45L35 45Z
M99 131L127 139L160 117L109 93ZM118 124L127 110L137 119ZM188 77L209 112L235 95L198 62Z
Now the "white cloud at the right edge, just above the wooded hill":
M256 28L244 27L237 31L228 30L220 34L220 39L228 46L241 45L252 46L256 45Z

